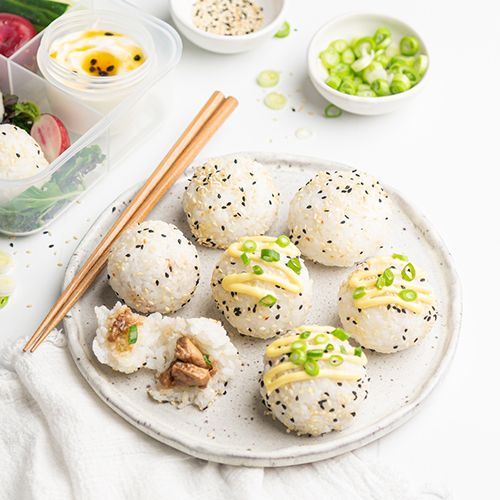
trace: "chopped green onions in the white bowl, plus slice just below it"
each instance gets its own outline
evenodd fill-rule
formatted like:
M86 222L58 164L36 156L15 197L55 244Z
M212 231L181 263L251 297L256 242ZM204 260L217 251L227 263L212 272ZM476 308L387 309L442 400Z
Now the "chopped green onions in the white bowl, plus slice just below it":
M420 43L404 36L394 43L388 28L380 27L373 36L333 40L319 53L328 71L325 83L339 92L359 97L384 97L406 92L417 85L427 71L429 60L420 53ZM328 118L336 118L327 106Z

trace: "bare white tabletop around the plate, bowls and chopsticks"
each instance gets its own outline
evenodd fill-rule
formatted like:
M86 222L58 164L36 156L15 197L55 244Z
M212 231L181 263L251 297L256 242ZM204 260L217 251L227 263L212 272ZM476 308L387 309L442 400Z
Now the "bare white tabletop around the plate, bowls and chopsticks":
M168 11L160 0L140 3L163 16ZM392 14L414 25L430 47L431 80L392 115L327 120L322 117L325 102L307 79L306 49L327 19L353 8ZM161 130L116 165L49 234L0 236L0 248L15 256L18 280L11 303L0 311L0 342L35 329L57 298L66 264L92 221L156 166L211 91L220 89L236 96L240 106L203 156L261 150L338 160L405 193L440 231L464 287L459 348L421 411L368 450L415 480L445 483L457 499L498 498L493 451L500 444L500 414L493 356L500 332L494 315L484 311L498 293L492 278L498 276L500 252L496 2L381 0L374 6L369 0L291 0L288 19L294 29L287 39L271 40L252 53L220 56L185 41L173 76L176 107ZM266 68L282 72L279 89L290 103L285 110L262 104L265 91L254 82ZM311 136L298 139L300 128Z

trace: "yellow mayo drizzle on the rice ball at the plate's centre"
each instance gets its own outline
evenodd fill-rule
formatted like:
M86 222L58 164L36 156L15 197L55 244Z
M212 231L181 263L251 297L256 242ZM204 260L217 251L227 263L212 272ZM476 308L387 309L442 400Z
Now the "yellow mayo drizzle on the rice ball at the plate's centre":
M280 255L299 257L299 249L290 243L288 246L282 248L276 243L277 238L272 236L251 236L240 238L237 242L233 243L227 249L227 253L234 258L240 258L243 253L246 253L251 262L259 262L265 265L266 268L273 268L280 271L280 274L270 273L265 271L263 274L255 273L236 273L228 274L222 280L222 288L227 292L236 292L243 295L248 295L250 297L255 297L260 300L266 295L269 295L269 291L259 287L258 283L269 283L271 285L277 285L284 290L298 295L304 290L304 285L299 279L299 276L289 267L285 265L281 260L278 262L266 262L260 257L260 252L263 249L276 250ZM242 245L245 241L252 240L256 243L256 249L254 252L244 252L242 250ZM250 266L250 264L249 264Z

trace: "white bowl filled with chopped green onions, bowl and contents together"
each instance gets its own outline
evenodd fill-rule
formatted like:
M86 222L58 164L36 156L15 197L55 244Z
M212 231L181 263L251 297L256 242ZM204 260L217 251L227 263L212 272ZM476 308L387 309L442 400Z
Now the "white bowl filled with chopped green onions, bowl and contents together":
M350 14L325 24L309 45L309 76L340 109L380 115L423 88L427 47L408 24L379 14Z

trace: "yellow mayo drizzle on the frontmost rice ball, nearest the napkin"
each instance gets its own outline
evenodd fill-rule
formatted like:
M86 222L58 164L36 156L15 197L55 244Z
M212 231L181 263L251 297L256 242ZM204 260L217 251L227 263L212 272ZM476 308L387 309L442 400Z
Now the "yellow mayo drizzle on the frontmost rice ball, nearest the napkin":
M335 328L331 326L318 326L318 325L310 325L310 326L301 326L297 328L297 335L290 335L287 337L282 337L276 339L274 342L269 344L266 348L266 356L268 358L276 358L280 357L283 354L287 354L291 352L291 345L296 340L300 339L300 333L302 332L311 332L311 335L308 339L304 339L306 342L314 339L317 334L327 334L331 331L335 330ZM325 349L327 344L334 344L334 340L331 336L328 335L328 340L322 344L312 344L308 343L307 347L311 349ZM337 354L342 356L344 359L344 363L349 362L355 365L365 365L367 363L367 358L363 353L361 356L354 355L354 349L350 346L344 347L347 350L347 354L340 353L340 350L335 349L333 351L329 351L327 354L324 354L321 358L315 358L316 361L325 361L332 356L332 354ZM268 394L271 394L276 389L280 387L290 384L292 382L300 382L303 380L311 380L314 378L328 378L332 380L345 380L345 381L353 381L361 378L360 373L349 370L349 367L346 367L342 363L338 367L328 367L324 368L324 364L321 364L321 369L318 375L312 377L308 373L306 373L302 366L296 365L291 361L284 361L282 363L277 364L273 368L271 368L263 377L264 385L266 387L266 391ZM346 369L347 368L347 369ZM286 372L286 373L284 373Z

